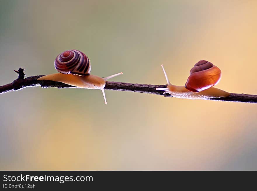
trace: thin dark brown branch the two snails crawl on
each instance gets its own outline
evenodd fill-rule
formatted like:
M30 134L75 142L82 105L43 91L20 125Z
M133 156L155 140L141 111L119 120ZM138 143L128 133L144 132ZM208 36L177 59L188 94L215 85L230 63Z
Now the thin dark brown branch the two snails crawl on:
M24 69L19 68L15 71L19 74L18 79L15 79L12 83L0 86L0 94L7 93L9 91L17 91L27 87L41 86L42 88L77 88L61 82L54 82L49 80L37 80L38 76L30 76L24 79ZM107 90L117 90L117 91L133 91L140 93L151 93L156 95L162 95L165 97L172 97L169 93L163 94L163 91L158 91L155 88L166 88L167 85L150 85L150 84L131 84L124 82L106 82L105 89ZM243 94L243 93L230 93L226 98L212 98L208 100L216 101L232 101L232 102L248 102L257 103L257 95Z

